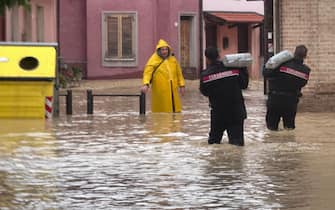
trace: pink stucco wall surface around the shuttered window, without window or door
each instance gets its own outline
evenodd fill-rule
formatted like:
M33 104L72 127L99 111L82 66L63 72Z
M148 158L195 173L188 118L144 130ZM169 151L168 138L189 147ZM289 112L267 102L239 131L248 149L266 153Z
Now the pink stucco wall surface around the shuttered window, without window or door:
M140 77L159 38L178 52L180 13L198 13L198 0L87 0L87 77ZM134 11L138 17L138 63L135 67L102 66L101 17L103 11ZM176 24L177 23L177 26Z

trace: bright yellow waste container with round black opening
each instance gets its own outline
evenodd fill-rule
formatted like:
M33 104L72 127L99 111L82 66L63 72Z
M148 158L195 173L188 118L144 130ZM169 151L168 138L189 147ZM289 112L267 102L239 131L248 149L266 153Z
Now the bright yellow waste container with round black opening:
M55 43L0 42L0 118L49 118Z

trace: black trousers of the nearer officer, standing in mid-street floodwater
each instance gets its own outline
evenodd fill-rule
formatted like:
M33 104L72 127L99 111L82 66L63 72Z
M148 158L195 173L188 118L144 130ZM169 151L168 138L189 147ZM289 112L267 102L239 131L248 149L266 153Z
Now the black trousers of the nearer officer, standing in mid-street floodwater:
M244 120L238 120L235 123L227 122L224 116L211 110L211 129L209 132L208 143L220 144L223 132L227 131L229 144L238 146L244 145Z

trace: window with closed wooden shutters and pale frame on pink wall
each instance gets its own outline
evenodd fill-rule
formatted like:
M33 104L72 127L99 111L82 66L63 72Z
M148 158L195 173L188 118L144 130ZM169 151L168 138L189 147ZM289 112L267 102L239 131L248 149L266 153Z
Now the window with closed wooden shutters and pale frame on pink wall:
M135 12L103 13L104 66L137 65L137 15Z

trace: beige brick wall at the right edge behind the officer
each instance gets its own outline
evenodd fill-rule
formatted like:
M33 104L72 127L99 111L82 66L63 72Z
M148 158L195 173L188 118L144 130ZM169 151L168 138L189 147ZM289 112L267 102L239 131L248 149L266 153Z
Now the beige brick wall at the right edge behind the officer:
M280 49L308 48L305 63L312 69L303 89L303 107L335 106L335 1L280 0Z

